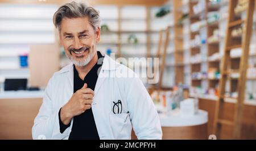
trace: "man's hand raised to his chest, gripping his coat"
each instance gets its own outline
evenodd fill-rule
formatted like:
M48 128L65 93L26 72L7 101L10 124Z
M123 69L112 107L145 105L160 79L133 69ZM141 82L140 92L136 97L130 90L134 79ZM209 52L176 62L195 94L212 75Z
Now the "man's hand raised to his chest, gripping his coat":
M90 109L92 107L93 96L93 90L87 88L87 84L84 84L84 86L80 90L77 90L71 99L61 108L61 122L68 125L73 117Z

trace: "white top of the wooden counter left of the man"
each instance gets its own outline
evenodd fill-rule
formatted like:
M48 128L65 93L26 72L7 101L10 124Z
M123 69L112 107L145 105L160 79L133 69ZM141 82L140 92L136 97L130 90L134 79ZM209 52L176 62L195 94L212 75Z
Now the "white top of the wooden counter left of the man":
M10 99L10 98L43 98L44 91L5 91L0 93L0 99Z

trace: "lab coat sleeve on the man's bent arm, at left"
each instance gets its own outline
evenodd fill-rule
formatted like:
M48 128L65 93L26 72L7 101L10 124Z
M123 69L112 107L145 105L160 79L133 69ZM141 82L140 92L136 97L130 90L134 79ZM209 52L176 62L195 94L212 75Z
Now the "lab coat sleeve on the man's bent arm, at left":
M32 127L33 139L67 139L70 127L60 133L59 109L53 110L52 94L54 94L52 79L49 80L44 92L43 103Z

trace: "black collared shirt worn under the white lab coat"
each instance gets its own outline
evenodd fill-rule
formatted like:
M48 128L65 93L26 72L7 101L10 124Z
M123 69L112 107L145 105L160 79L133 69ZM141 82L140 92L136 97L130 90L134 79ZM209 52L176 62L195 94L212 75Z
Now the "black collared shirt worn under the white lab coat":
M102 58L100 51L97 51L98 59ZM102 59L103 60L103 59ZM74 93L81 89L82 86L86 83L87 87L94 90L97 79L98 79L98 68L102 66L101 64L96 63L93 68L85 76L84 80L79 77L79 74L74 68ZM60 111L59 111L59 123L60 123L60 132L63 133L69 126L65 126L60 120ZM86 110L81 115L78 115L73 118L72 131L69 135L69 140L99 140L97 127L94 121L92 109Z

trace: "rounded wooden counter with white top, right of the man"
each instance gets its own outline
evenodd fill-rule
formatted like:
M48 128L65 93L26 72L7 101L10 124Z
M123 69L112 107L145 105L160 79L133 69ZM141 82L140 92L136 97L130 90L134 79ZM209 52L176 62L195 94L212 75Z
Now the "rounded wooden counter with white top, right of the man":
M208 113L199 110L191 117L183 117L179 111L166 115L159 114L163 140L204 140L208 139ZM132 139L137 139L132 132Z

